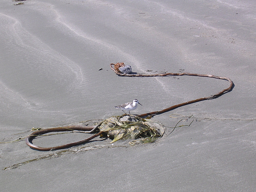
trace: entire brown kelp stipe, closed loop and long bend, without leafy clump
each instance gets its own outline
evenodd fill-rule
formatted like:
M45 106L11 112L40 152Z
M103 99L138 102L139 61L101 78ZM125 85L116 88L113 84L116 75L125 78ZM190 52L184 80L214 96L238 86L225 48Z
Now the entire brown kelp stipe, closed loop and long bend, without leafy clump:
M181 106L185 106L185 105L188 105L188 104L200 102L200 101L203 101L203 100L210 100L210 99L218 98L219 96L221 96L221 95L223 95L227 92L230 92L232 90L232 88L234 87L234 84L230 80L230 78L218 77L218 76L215 76L215 75L207 75L207 74L194 74L194 73L123 74L123 73L118 72L118 68L119 68L120 64L124 64L124 63L110 64L110 68L118 76L126 76L126 77L157 77L157 76L161 76L161 77L164 77L164 76L184 76L184 75L187 75L187 76L199 76L199 77L210 77L210 78L216 78L216 79L223 79L223 80L227 80L230 83L228 88L226 88L226 89L224 89L224 90L222 90L222 91L220 91L220 92L218 92L214 95L211 95L211 96L208 96L208 97L198 98L198 99L191 100L191 101L188 101L188 102L184 102L184 103L181 103L181 104L177 104L177 105L171 106L169 108L166 108L166 109L163 109L163 110L160 110L160 111L154 111L154 112L150 112L150 113L140 114L140 115L137 115L138 117L145 118L147 116L155 116L155 115L158 115L158 114L162 114L162 113L174 110L174 109L176 109L178 107L181 107ZM114 68L112 67L113 65L114 65ZM36 146L36 145L32 144L32 140L36 136L40 136L42 134L49 133L49 132L61 132L61 131L78 130L78 131L88 131L89 133L92 133L92 132L94 132L94 130L98 130L98 126L100 126L100 124L98 124L97 126L78 126L78 125L74 125L74 126L56 127L56 128L48 128L48 129L44 129L44 130L38 130L38 131L35 131L32 134L30 134L25 139L25 141L26 141L26 144L28 146L30 146L30 148L32 148L34 150L39 150L39 151L50 151L50 150L70 148L72 146L77 146L77 145L89 142L93 138L100 136L103 133L103 131L99 131L98 133L94 134L93 136L91 136L91 137L89 137L85 140L81 140L81 141L78 141L78 142L69 143L69 144L65 144L65 145L61 145L61 146L56 146L56 147L48 147L48 148L39 147L39 146Z

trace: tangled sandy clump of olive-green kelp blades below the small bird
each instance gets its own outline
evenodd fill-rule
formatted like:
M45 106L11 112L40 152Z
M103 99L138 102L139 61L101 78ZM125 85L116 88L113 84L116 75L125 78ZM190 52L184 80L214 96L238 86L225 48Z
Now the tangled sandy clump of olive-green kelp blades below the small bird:
M127 114L107 118L98 128L112 139L110 143L120 139L140 140L141 143L148 143L156 141L164 134L164 127L160 124Z

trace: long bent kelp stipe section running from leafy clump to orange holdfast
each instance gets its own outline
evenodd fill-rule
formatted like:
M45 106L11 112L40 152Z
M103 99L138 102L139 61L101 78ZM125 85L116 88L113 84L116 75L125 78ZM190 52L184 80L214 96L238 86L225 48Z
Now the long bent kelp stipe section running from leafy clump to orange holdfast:
M215 79L223 79L223 80L227 80L230 85L228 86L228 88L214 94L214 95L211 95L211 96L208 96L208 97L202 97L202 98L198 98L198 99L195 99L195 100L191 100L191 101L188 101L188 102L184 102L184 103L180 103L180 104L177 104L177 105L174 105L174 106L171 106L169 108L166 108L166 109L163 109L163 110L160 110L160 111L154 111L154 112L150 112L150 113L145 113L145 114L141 114L141 115L138 115L139 117L146 117L146 116L154 116L154 115L158 115L158 114L162 114L162 113L165 113L165 112L168 112L170 110L174 110L178 107L181 107L181 106L185 106L185 105L188 105L188 104L192 104L192 103L196 103L196 102L199 102L199 101L203 101L203 100L210 100L210 99L214 99L214 98L218 98L219 96L227 93L227 92L230 92L232 90L232 88L234 87L234 84L232 82L232 80L230 80L230 78L228 77L218 77L218 76L215 76L215 75L208 75L208 74L196 74L196 73L157 73L157 74L124 74L124 73L120 73L116 70L116 68L113 68L112 65L116 65L116 64L110 64L110 68L118 75L118 76L126 76L126 77L164 77L164 76L184 76L184 75L187 75L187 76L199 76L199 77L210 77L210 78L215 78Z

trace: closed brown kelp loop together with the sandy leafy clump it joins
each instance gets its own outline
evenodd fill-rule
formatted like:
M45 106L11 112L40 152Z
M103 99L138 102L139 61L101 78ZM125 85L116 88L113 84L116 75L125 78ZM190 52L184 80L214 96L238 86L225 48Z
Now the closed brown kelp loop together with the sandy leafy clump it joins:
M86 133L92 133L94 130L99 130L97 134L93 136L81 140L74 143L69 143L56 147L39 147L32 143L32 140L37 136L41 136L42 134L49 132L60 132L60 131L87 131ZM44 130L38 130L33 132L30 136L28 136L25 141L30 148L40 151L50 151L50 150L58 150L63 148L68 148L80 144L84 144L97 136L107 136L112 139L110 143L116 142L120 139L137 139L144 138L141 140L142 143L145 142L154 142L158 137L162 137L164 134L164 128L162 125L158 123L151 122L150 120L146 120L140 118L135 115L127 115L124 114L122 116L112 116L100 122L96 126L65 126L65 127L56 127L56 128L48 128Z

